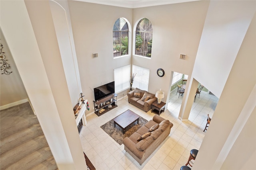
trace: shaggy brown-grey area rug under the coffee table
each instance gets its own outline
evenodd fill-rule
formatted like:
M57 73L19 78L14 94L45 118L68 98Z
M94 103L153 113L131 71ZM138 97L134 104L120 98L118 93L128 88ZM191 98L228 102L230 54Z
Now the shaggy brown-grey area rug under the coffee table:
M139 117L139 123L137 124L137 121L133 123L132 125L127 127L127 131L123 134L122 129L116 125L114 127L114 121L113 119L105 123L101 126L101 128L110 135L119 145L122 145L123 139L125 137L130 137L134 132L136 132L140 127L144 126L148 121L144 119L143 117Z

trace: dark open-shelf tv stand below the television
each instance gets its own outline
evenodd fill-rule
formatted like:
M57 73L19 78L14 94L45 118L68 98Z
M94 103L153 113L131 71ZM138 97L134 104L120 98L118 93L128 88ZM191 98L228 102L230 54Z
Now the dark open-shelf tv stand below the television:
M117 94L113 93L100 100L93 101L94 110L95 110L94 113L100 116L117 107L117 96L118 96Z

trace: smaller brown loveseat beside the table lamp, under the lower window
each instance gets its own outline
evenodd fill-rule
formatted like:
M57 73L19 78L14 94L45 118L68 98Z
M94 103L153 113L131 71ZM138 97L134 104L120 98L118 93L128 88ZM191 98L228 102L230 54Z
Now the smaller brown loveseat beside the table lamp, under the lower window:
M136 96L136 95L134 95L134 92L140 92L140 95ZM144 94L145 94L145 96L149 97L149 99L146 100L146 102L142 101ZM130 104L133 104L134 106L137 106L146 112L148 112L151 109L152 103L154 103L157 100L157 98L155 97L154 94L149 93L145 90L140 90L138 88L127 93L127 96L128 96L128 102Z

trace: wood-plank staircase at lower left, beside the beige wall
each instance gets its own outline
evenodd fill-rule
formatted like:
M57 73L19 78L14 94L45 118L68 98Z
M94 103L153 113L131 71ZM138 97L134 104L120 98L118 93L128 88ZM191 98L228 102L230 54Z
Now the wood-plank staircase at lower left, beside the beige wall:
M28 102L0 111L0 170L56 170L56 162Z

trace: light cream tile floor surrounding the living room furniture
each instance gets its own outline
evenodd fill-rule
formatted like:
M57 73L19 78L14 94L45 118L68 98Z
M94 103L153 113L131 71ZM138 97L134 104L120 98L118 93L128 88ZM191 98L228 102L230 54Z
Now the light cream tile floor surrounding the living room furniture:
M196 96L190 111L188 121L180 121L178 114L183 96L178 98L176 90L170 94L168 109L161 117L169 119L174 124L170 135L142 164L138 164L130 154L124 150L100 126L114 117L130 109L147 120L152 119L154 113L145 112L129 104L127 96L118 101L118 107L98 117L91 114L86 117L87 125L80 132L82 147L97 170L180 170L188 161L191 149L198 149L207 132L203 132L207 114L212 117L218 103L218 98L204 91L200 98Z

